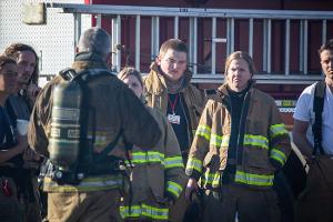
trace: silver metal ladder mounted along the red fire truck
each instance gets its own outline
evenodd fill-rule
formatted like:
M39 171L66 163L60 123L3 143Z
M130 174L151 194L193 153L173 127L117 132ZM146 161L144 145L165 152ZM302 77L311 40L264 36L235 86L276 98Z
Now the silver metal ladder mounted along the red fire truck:
M70 4L70 3L46 3L47 9L59 9L60 12L72 13L74 17L74 42L81 34L81 14L92 14L97 19L97 26L102 26L102 18L111 22L112 46L114 47L114 56L112 63L114 69L121 69L122 53L124 50L121 42L122 37L122 18L131 17L134 21L134 67L140 70L141 65L141 41L142 39L142 18L149 17L151 19L151 60L159 52L160 47L160 20L162 18L172 18L173 38L179 38L180 21L183 18L188 19L189 29L189 63L193 71L193 81L201 83L216 83L221 82L223 75L218 74L216 71L216 49L218 44L225 44L225 57L235 50L235 22L245 21L248 32L248 49L252 56L256 48L254 48L254 37L258 26L256 21L261 22L262 30L262 65L258 69L259 73L255 75L258 82L262 83L290 83L290 84L309 84L321 79L322 74L317 71L316 74L309 73L309 23L311 21L320 22L321 43L326 41L329 22L333 21L333 11L291 11L291 10L239 10L239 9L203 9L203 8L162 8L162 7L134 7L134 6L102 6L102 4ZM210 49L210 70L206 73L199 72L198 69L198 21L199 19L206 19L210 21L211 42ZM218 26L218 22L223 20L223 26ZM272 41L273 30L272 23L274 21L282 22L282 30L284 39L283 52L283 70L278 73L272 68ZM296 21L299 34L294 37L291 24ZM331 23L330 23L331 24ZM218 30L223 28L224 36L219 37ZM221 33L221 31L220 31ZM291 39L297 38L297 69L291 71ZM319 47L317 47L319 48ZM220 52L219 52L220 53ZM294 53L294 52L293 52Z

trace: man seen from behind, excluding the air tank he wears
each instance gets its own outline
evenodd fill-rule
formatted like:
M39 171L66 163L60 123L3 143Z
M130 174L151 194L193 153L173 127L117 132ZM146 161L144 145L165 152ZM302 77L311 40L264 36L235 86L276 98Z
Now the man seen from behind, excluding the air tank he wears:
M79 42L79 53L72 68L77 73L97 75L87 82L89 108L88 137L94 134L93 157L100 157L119 134L142 148L152 148L160 139L161 130L142 102L114 74L108 71L105 61L110 53L110 36L100 28L88 29ZM104 74L99 75L100 72ZM38 153L50 157L51 111L54 87L63 82L57 75L39 94L29 125L29 144ZM72 99L73 100L73 99ZM85 107L84 107L85 108ZM81 125L84 127L84 125ZM122 133L120 133L122 132ZM53 132L54 133L54 132ZM60 134L60 133L59 133ZM84 140L85 141L85 140ZM88 140L89 141L89 140ZM50 147L49 147L50 148ZM90 148L90 147L89 147ZM81 149L81 148L80 148ZM58 183L47 174L43 190L48 192L48 220L52 221L120 221L120 190L124 176L118 163L125 159L125 149L117 143L102 161L88 164L87 176L79 184ZM82 162L79 159L80 162Z

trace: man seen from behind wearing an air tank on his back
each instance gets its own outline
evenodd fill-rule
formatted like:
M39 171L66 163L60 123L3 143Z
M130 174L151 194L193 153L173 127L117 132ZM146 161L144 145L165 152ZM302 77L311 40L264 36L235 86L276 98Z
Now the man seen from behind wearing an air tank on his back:
M160 139L153 117L109 71L110 42L103 29L85 30L72 69L61 71L36 101L28 139L52 163L43 182L50 222L120 221L120 138L142 148Z

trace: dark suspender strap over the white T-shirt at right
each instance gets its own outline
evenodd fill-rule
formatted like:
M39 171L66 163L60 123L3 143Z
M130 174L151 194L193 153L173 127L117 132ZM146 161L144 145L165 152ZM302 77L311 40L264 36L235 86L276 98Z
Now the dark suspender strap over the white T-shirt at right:
M314 89L313 99L313 112L315 114L314 123L312 125L312 132L314 137L314 150L313 154L320 151L321 154L325 154L322 147L322 112L324 108L324 97L325 97L326 83L324 80L317 82Z

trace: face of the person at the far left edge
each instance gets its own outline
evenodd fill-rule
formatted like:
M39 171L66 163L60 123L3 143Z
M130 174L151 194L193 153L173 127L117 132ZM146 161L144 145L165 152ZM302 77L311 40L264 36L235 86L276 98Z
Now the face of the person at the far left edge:
M14 63L7 63L0 70L0 92L10 94L17 85L18 67Z

